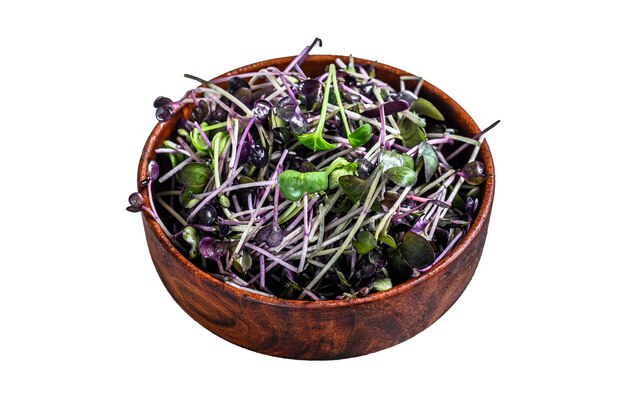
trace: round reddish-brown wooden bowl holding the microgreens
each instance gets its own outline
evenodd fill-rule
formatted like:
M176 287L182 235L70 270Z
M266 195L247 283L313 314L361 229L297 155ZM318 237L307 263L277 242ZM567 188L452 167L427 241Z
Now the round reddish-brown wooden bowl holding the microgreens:
M338 56L309 56L302 65L309 76L320 75ZM345 57L340 57L346 60ZM275 66L284 69L292 57L250 64L222 76ZM357 63L371 61L355 59ZM396 88L399 78L412 75L376 64L376 77ZM408 81L407 87L415 85ZM465 136L480 132L472 118L452 98L428 82L420 96L446 116L446 123ZM156 125L141 155L139 183L146 178L154 150L170 135L176 119ZM340 359L376 352L405 341L439 319L459 298L474 275L487 236L495 176L484 142L479 160L487 180L476 219L456 247L425 274L364 298L294 301L244 292L201 271L168 240L158 224L143 213L148 248L163 284L174 300L198 323L234 344L268 355L294 359Z

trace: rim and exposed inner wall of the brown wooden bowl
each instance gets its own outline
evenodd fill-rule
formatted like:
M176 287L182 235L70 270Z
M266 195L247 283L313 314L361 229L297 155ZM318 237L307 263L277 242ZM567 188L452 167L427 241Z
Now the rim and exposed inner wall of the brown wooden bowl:
M326 66L332 62L334 62L337 58L342 59L347 63L348 57L346 56L336 56L336 55L311 55L309 56L305 62L302 64L302 69L309 76L318 76L321 75ZM279 69L284 69L293 59L293 57L282 57L271 60L265 60L257 63L253 63L244 67L237 68L235 70L224 73L216 78L227 77L231 75L236 75L245 72L254 72L258 71L262 68L267 68L270 66L277 67ZM355 62L359 64L371 65L374 62L366 59L355 58ZM382 81L389 83L395 89L399 88L400 85L400 77L402 76L410 76L414 75L404 70L388 66L382 63L376 63L376 78ZM405 81L407 89L415 88L417 81ZM226 83L220 84L225 87ZM459 130L459 133L472 137L477 135L480 132L480 129L476 125L476 123L472 120L469 114L452 98L450 98L443 91L433 86L427 81L423 81L422 87L420 89L420 96L430 100L441 112L444 116L446 116L446 124L449 127L453 127ZM177 118L174 118L165 123L159 123L152 131L150 137L148 138L146 145L144 147L142 157L139 163L138 168L138 188L142 194L147 197L147 190L145 188L141 188L140 183L146 179L146 171L147 164L150 160L154 160L156 153L154 150L160 147L163 142L170 136L175 121ZM469 150L468 150L469 151ZM172 256L176 258L179 263L185 266L186 269L189 269L195 276L202 280L209 280L213 284L222 287L225 291L233 292L238 296L251 297L255 298L259 302L269 303L281 305L283 307L306 307L306 308L318 308L318 307L346 307L353 306L359 303L367 303L373 302L377 299L381 299L384 297L393 296L397 293L407 291L410 288L413 288L420 283L428 280L430 277L440 274L446 268L446 266L453 260L459 257L460 254L467 248L468 244L475 238L477 233L483 228L483 225L488 223L488 217L491 211L491 205L493 202L494 190L495 190L495 174L494 174L494 165L493 159L491 156L491 152L489 151L489 146L487 142L483 142L483 145L480 149L480 153L478 159L481 160L485 164L485 173L487 175L487 179L483 184L483 195L479 205L479 210L477 212L476 218L474 219L470 229L467 234L463 236L461 241L453 248L451 252L448 253L441 261L439 261L430 271L425 274L418 276L417 278L410 279L402 284L396 285L392 287L390 290L383 292L376 292L374 294L370 294L363 298L355 298L355 299L346 299L346 300L325 300L321 302L310 302L310 301L298 301L298 300L289 300L283 298L272 298L263 295L249 293L244 290L240 290L230 285L226 285L222 281L212 277L210 274L200 270L193 263L186 259L168 240L165 234L162 232L159 225L154 222L151 218L149 218L144 212L144 222L150 227L150 229L157 235L159 241L161 242L164 249L167 252L171 253Z

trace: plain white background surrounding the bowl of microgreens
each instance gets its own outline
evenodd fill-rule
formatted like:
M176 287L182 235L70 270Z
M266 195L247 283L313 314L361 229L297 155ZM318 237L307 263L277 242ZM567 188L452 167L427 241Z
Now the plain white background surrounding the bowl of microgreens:
M624 399L626 30L612 4L4 2L0 399ZM315 36L315 53L395 65L479 126L502 120L467 291L417 337L334 362L203 329L124 211L156 96Z

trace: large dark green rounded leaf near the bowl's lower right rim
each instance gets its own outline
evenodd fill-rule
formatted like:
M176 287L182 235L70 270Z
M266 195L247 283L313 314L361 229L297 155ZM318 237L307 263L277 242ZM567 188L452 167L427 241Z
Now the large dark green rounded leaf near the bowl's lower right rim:
M399 281L408 279L412 269L422 269L435 261L435 251L430 242L419 234L407 231L397 249L387 250L389 273Z

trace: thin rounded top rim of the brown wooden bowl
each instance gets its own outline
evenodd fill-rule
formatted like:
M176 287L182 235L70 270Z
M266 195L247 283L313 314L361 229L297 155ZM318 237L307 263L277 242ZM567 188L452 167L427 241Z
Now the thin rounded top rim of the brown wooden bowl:
M244 65L238 68L235 68L231 71L225 72L213 79L223 78L231 75L238 74L241 70L258 70L260 68L266 68L272 64L283 64L285 62L289 62L295 56L286 56L286 57L277 57L272 59L267 59L263 61L258 61L255 63L251 63L248 65ZM335 59L347 60L348 56L340 56L340 55L331 55L331 54L320 54L320 55L309 55L308 58L303 62L304 65L310 61L325 61L330 63ZM359 57L354 57L354 61L359 64L372 64L376 63L376 69L385 70L391 74L397 76L406 76L413 75L409 72L401 70L399 68L389 66L384 63L374 62L368 59L363 59ZM450 96L444 93L442 90L429 83L428 81L423 81L422 88L427 90L428 92L433 93L436 97L442 99L446 103L448 103L449 107L454 109L455 113L460 113L464 115L467 119L467 123L470 126L471 130L474 134L480 132L479 127L476 122L472 119L472 117ZM147 188L141 187L141 182L147 178L147 166L150 160L154 159L154 150L159 145L157 143L157 137L163 130L164 126L167 123L157 123L157 125L153 128L150 133L146 143L144 145L143 151L141 153L141 158L139 161L138 172L137 172L137 188L145 198L147 198ZM491 212L493 198L495 193L495 170L493 157L491 155L491 151L489 149L489 145L487 141L483 141L483 144L479 151L479 156L482 158L482 161L485 165L485 173L487 179L483 184L483 196L481 198L481 202L479 203L478 213L476 218L470 225L468 232L461 238L461 241L456 244L450 252L443 257L439 262L437 262L429 271L420 274L418 277L411 278L404 283L398 284L390 288L389 290L385 290L382 292L375 292L373 294L369 294L362 298L351 298L351 299L328 299L321 301L309 301L309 300L293 300L293 299L285 299L279 297L269 297L266 295L256 294L253 292L245 291L234 287L232 285L228 285L225 282L213 277L211 274L202 271L196 265L191 263L182 253L176 249L176 247L170 242L165 233L162 231L161 227L158 223L152 219L146 211L142 211L142 220L144 223L144 227L148 227L152 233L155 235L159 243L162 247L172 256L181 266L183 266L188 272L192 273L197 279L202 281L207 281L213 286L219 287L222 291L226 291L231 295L236 297L243 297L246 299L250 299L259 303L273 305L282 308L307 308L307 309L319 309L319 308L349 308L356 305L361 304L369 304L371 302L380 301L383 299L393 298L400 294L403 294L414 287L421 285L427 280L442 274L447 270L447 267L450 266L455 260L457 260L470 246L472 241L478 236L478 233L483 230L483 227L488 224L489 215Z

